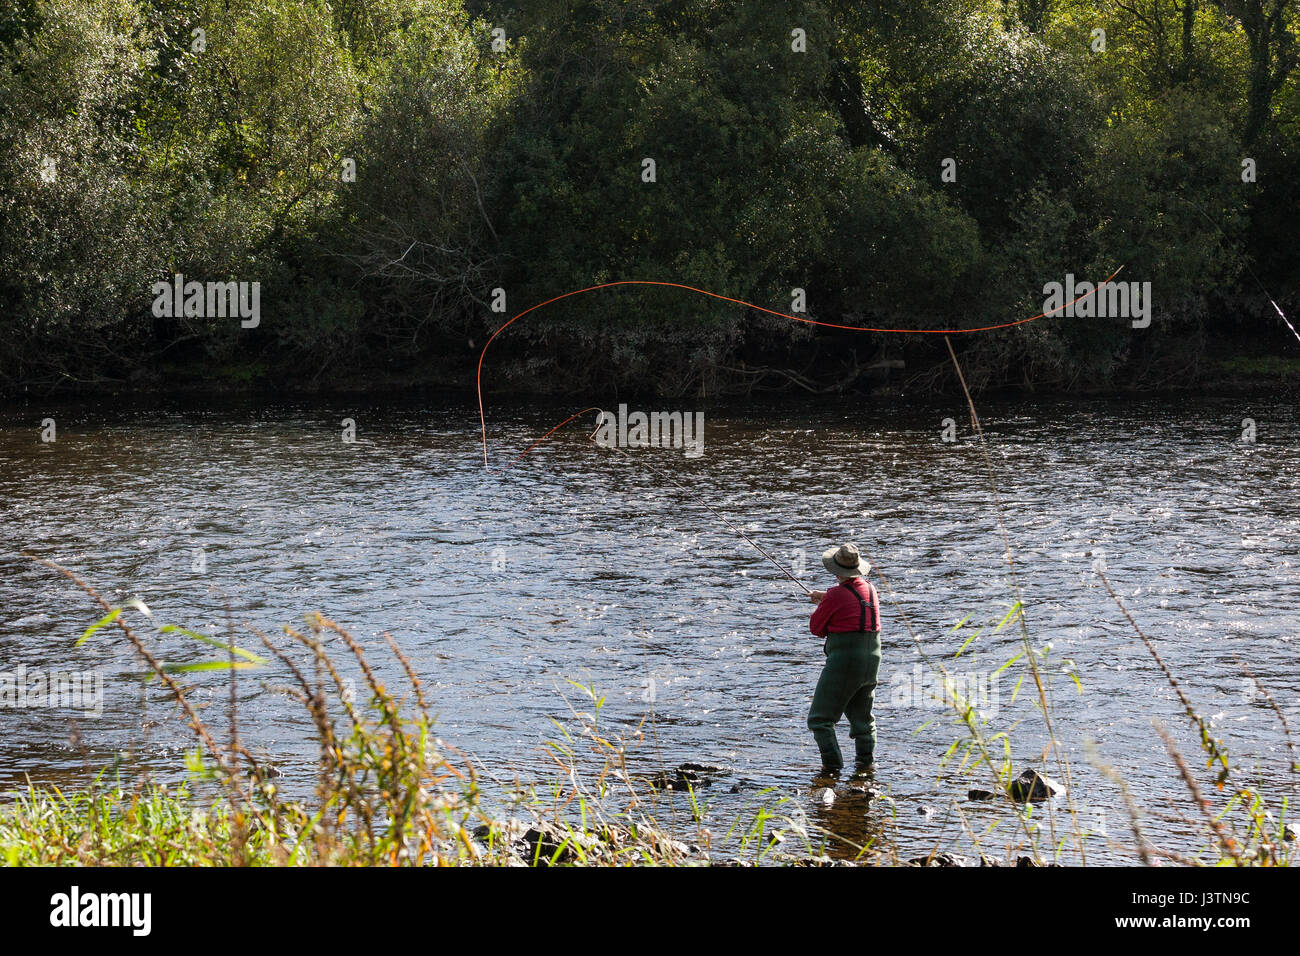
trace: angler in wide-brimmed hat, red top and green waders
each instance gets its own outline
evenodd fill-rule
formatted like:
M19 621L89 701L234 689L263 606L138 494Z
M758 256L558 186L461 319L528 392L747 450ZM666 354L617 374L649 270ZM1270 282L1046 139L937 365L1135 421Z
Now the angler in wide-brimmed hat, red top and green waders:
M871 706L880 670L880 598L866 580L871 563L857 545L831 548L822 563L840 583L811 593L818 607L809 630L823 639L826 663L809 708L809 730L822 752L822 774L835 777L844 769L835 724L848 715L857 758L853 775L864 777L875 770L876 719Z

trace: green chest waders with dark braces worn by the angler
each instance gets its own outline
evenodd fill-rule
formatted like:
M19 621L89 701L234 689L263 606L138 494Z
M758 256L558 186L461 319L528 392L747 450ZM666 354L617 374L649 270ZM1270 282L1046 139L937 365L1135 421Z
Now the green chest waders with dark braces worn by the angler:
M812 693L809 708L809 730L822 752L822 766L837 770L844 766L835 724L841 717L849 718L849 736L853 737L857 762L868 765L876 750L876 719L871 708L876 698L876 675L880 671L880 613L848 584L862 609L858 631L827 632L826 663ZM871 630L867 630L867 610L871 610Z

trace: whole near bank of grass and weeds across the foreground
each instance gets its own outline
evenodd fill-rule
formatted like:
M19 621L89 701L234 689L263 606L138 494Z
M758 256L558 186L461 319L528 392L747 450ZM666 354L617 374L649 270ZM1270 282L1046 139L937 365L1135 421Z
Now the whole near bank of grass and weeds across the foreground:
M286 627L276 640L243 626L242 632L260 643L261 653L240 646L234 626L226 640L164 626L159 630L220 648L212 661L172 665L157 657L127 620L129 614L138 619L147 609L131 602L110 606L94 588L58 570L103 610L82 640L120 635L187 724L195 748L186 758L182 783L117 770L112 779L107 773L87 779L79 792L29 786L16 793L0 808L0 862L10 866L1050 865L1086 864L1093 849L1089 840L1096 838L1088 832L1069 760L1056 737L1027 773L1052 773L1065 782L1065 792L1060 799L1027 797L1017 791L1019 765L1013 760L1023 747L1010 736L1022 724L993 726L993 718L963 697L962 684L952 679L949 667L980 633L965 622L954 630L962 641L956 653L942 659L924 656L896 604L926 666L941 676L942 702L956 728L948 750L935 754L936 773L968 779L984 788L985 799L1002 801L1008 812L994 826L980 829L954 801L967 847L935 845L927 855L905 857L890 839L897 808L870 782L862 786L859 799L880 822L881 838L864 844L835 832L833 826L814 823L806 804L819 799L818 790L796 795L759 791L731 819L715 819L694 788L701 778L688 765L654 777L632 769L644 766L645 761L636 758L649 749L653 727L611 727L602 719L604 700L594 687L571 682L567 717L556 722L556 736L546 744L555 765L550 779L502 779L504 774L494 774L434 735L420 678L390 639L386 653L406 675L406 685L396 691L377 678L365 650L344 628L320 615L311 615L302 628ZM1104 571L1098 575L1109 591ZM880 578L894 600L888 579ZM1121 598L1110 593L1127 618ZM1140 808L1124 780L1093 761L1113 780L1128 810L1127 831L1106 838L1110 848L1145 864L1290 865L1296 843L1286 795L1265 793L1249 770L1239 771L1165 666L1156 641L1128 620L1135 639L1178 696L1199 744L1199 757L1184 756L1174 735L1157 726L1170 756L1171 780L1183 792L1180 810L1173 813L1190 831L1201 834L1202 845L1166 848L1149 839L1144 818L1167 818L1171 810L1164 805L1149 812ZM1053 676L1070 675L1070 669L1050 658L1048 646L1028 640L1020 604L987 627L1022 628L1024 653L1002 667L1018 688L1036 698L1050 734L1057 708ZM270 658L282 665L281 675L289 682L282 692L306 710L315 728L318 756L311 796L281 792L280 771L256 758L240 740L235 684L242 671L270 666ZM364 687L352 691L342 676L344 666L360 670ZM203 719L191 702L192 688L183 683L187 672L218 669L229 670L230 683L231 706L224 727ZM1251 678L1249 671L1243 672ZM1069 682L1078 683L1075 676ZM1271 704L1266 688L1257 687ZM1300 779L1286 717L1275 704L1271 709L1284 731L1288 774ZM1196 769L1197 763L1204 769Z

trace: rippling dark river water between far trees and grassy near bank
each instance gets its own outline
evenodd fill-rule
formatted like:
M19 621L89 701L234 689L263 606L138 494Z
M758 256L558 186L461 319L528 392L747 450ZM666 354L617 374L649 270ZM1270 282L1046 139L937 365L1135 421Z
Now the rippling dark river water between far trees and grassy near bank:
M493 463L581 405L490 403ZM1020 683L1023 659L998 672L1023 646L1018 627L994 630L1015 591L963 407L837 398L682 411L705 412L699 457L604 451L575 423L504 472L484 467L477 410L437 401L4 411L0 670L94 670L104 706L99 717L0 709L0 784L30 775L75 788L88 767L129 748L177 775L192 745L156 688L142 721L138 666L118 632L74 646L100 613L21 558L26 549L110 601L142 598L159 623L218 633L229 606L237 620L277 632L318 610L350 628L398 687L380 637L387 631L425 682L438 734L503 782L555 777L545 750L562 739L552 718L567 717L566 698L590 710L577 682L603 696L611 734L633 735L651 717L629 756L634 769L728 769L701 791L719 840L767 801L794 832L801 822L826 826L904 857L936 845L970 852L971 831L1005 852L1018 839L1014 813L966 800L968 788L989 786L987 771L963 767L961 752L945 760L966 734L930 697L901 620L926 656L978 688L987 732L1009 734L1015 770L1035 765L1046 745L1037 695ZM1098 559L1235 762L1268 792L1295 799L1280 724L1242 665L1300 728L1296 411L1265 395L982 406L1028 631L1035 646L1050 645L1044 670L1089 861L1134 858L1128 814L1100 765L1126 782L1157 845L1204 844L1153 721L1193 767L1205 760L1093 572ZM52 442L40 440L47 418ZM355 442L342 441L343 419L355 420ZM944 419L956 441L944 441ZM1243 441L1245 419L1253 442ZM810 793L819 761L803 722L823 659L807 632L811 607L701 499L809 587L826 587L819 555L840 540L884 570L898 604L884 594L883 797L841 788L828 806ZM211 652L152 640L170 661ZM194 683L224 727L224 678ZM308 790L311 727L277 689L285 683L278 665L243 675L239 719L286 786ZM852 754L842 723L841 740ZM998 739L998 756L1002 747ZM681 796L664 797L660 813L690 831ZM1043 809L1032 819L1048 826ZM1050 836L1041 844L1050 853Z

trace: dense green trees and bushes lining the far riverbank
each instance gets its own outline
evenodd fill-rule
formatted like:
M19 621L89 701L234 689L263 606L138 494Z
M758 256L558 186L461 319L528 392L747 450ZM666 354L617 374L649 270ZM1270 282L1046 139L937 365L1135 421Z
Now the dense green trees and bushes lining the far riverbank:
M963 337L972 384L1295 358L1261 284L1300 304L1297 33L1300 0L16 0L0 390L465 386L506 319L612 280L967 328L1121 264L1149 328ZM260 324L159 316L177 273L259 282ZM715 394L858 388L879 359L942 388L944 356L621 287L489 364Z

